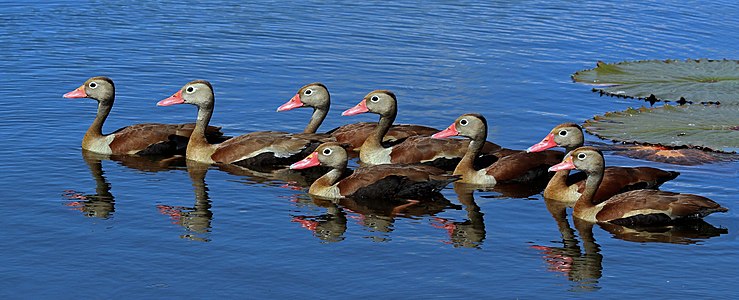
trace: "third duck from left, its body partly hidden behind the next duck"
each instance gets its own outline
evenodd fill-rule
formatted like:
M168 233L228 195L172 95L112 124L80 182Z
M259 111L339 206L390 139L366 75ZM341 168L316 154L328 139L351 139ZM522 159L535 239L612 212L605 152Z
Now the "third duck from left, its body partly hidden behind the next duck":
M307 84L298 90L290 101L277 108L277 111L286 111L299 107L312 107L313 115L303 132L315 133L321 126L331 106L331 95L325 85L320 82ZM350 145L351 150L359 150L367 136L377 127L375 122L358 122L346 124L328 131L339 143ZM395 124L390 127L383 141L392 142L414 135L432 135L436 128L411 124Z

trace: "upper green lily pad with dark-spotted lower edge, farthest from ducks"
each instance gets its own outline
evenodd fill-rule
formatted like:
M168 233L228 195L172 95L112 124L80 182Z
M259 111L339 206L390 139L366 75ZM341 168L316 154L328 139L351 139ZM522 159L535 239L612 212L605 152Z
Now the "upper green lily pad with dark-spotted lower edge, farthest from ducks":
M655 101L739 105L737 60L643 60L598 62L572 75L575 82L595 84L594 92Z

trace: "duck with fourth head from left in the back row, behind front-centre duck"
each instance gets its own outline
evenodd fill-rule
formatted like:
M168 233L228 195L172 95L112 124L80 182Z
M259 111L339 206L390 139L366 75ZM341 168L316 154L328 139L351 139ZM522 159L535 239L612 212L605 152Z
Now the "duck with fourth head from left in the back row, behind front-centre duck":
M400 143L390 145L383 143L383 137L397 116L397 107L395 94L387 90L376 90L364 96L359 104L342 113L343 116L367 112L380 115L377 127L359 149L359 159L370 165L423 163L445 170L454 169L467 151L468 140L411 136ZM501 151L501 147L485 142L480 152L492 154L496 151Z

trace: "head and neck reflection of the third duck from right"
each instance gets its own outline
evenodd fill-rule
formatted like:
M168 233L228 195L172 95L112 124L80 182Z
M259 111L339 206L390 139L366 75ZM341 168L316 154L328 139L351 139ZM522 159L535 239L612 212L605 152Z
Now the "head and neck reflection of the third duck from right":
M434 218L434 227L442 228L449 234L449 243L454 247L480 248L485 240L484 214L475 203L474 193L476 186L455 182L454 192L457 199L464 205L467 211L467 219L463 221L451 221L445 218Z

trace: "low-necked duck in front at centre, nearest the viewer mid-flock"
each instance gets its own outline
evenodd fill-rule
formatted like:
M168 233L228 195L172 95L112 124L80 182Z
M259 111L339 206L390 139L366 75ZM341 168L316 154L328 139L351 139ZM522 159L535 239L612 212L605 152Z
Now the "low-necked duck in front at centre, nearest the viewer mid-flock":
M290 169L325 166L331 170L311 184L308 193L328 199L413 199L437 196L447 184L457 180L444 170L425 165L377 165L359 167L341 178L348 154L339 143L325 143Z

